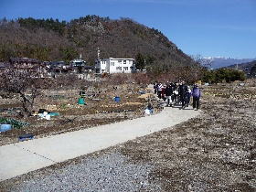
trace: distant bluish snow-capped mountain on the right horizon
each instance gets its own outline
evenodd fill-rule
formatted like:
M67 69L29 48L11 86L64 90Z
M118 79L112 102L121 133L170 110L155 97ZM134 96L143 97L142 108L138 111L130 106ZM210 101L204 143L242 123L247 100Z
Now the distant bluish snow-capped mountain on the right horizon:
M225 57L214 57L214 58L208 57L204 59L209 60L211 62L211 66L208 67L211 69L219 69L219 68L228 67L230 65L247 63L247 62L256 60L256 59L231 59L231 58L225 58Z

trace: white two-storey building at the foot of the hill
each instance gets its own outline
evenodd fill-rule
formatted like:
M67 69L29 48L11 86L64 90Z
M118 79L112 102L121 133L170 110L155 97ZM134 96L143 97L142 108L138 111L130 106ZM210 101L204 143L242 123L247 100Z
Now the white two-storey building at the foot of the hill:
M135 59L97 59L95 60L96 73L132 73L135 71Z

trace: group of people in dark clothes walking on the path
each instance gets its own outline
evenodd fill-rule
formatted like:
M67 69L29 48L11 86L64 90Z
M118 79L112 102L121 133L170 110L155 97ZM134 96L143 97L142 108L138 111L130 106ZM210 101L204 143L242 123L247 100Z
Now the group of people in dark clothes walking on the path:
M154 89L159 100L166 101L166 107L181 104L184 109L188 107L191 97L193 98L193 109L198 110L200 107L201 89L197 83L191 89L184 80L178 83L167 81L165 85L155 82Z

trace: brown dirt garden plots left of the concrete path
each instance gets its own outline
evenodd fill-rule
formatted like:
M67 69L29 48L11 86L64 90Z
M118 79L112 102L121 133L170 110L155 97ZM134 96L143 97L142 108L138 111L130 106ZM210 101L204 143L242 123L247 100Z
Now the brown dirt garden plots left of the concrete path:
M145 94L142 94L144 91ZM144 108L150 102L154 112L161 111L152 91L138 85L121 85L104 89L89 88L84 92L84 104L78 104L80 90L41 91L36 99L35 113L40 109L55 113L50 117L40 118L38 115L20 119L16 113L2 112L0 117L13 118L19 122L29 123L21 129L11 129L0 133L0 145L18 142L19 135L32 133L34 138L52 134L66 133L101 124L120 122L144 115ZM119 101L115 99L118 95ZM21 104L16 99L2 99L1 109L18 109Z

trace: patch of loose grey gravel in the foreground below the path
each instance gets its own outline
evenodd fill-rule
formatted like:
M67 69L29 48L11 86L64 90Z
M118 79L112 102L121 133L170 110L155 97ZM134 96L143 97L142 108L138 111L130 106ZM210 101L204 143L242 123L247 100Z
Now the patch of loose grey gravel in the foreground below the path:
M160 187L148 183L152 165L129 163L120 153L98 157L80 158L80 163L54 165L27 175L25 180L16 179L16 187L10 191L159 191Z

